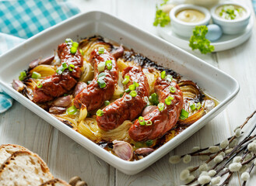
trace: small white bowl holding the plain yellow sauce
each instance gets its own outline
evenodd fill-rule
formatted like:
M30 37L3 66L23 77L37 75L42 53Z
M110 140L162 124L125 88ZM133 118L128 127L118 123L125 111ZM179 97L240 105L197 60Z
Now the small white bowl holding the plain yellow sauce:
M181 12L184 9L195 9L199 12L202 12L205 14L205 19L203 19L200 22L183 22L179 19L177 19L176 15L178 12ZM179 36L183 37L190 37L193 33L193 29L195 29L195 26L202 26L202 25L208 25L209 21L211 19L211 14L208 9L205 9L201 6L196 5L177 5L170 11L170 20L171 20L171 26L174 31Z

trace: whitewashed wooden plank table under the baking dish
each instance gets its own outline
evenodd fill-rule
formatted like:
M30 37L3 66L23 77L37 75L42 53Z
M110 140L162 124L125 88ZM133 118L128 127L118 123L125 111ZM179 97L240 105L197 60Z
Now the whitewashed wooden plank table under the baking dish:
M238 1L238 0L237 0ZM100 10L116 15L126 22L156 34L153 27L155 0L75 0L82 12ZM251 7L251 0L239 1ZM254 17L254 30L255 16ZM233 134L233 129L244 122L256 108L256 32L250 40L233 50L209 55L198 55L209 64L236 78L240 83L237 98L215 119L187 141L139 174L128 176L84 149L68 136L54 129L33 112L14 102L12 108L0 115L0 144L16 143L38 153L55 177L66 181L78 175L89 186L93 185L181 185L179 173L186 164L172 166L170 155L188 153L193 146L211 146ZM256 119L254 119L254 122ZM192 164L196 164L193 162ZM240 185L233 177L230 185ZM256 185L256 171L247 185Z

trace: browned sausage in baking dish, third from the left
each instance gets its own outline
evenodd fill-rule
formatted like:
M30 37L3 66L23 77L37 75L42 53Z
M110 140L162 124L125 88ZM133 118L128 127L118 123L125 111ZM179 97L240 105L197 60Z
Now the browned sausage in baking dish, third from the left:
M103 115L97 116L96 121L100 129L110 130L120 126L125 120L135 119L146 107L145 97L149 96L149 83L146 75L140 67L127 67L123 71L123 77L129 76L130 81L126 84L126 88L133 84L134 81L139 83L139 87L135 89L137 95L130 100L127 93L122 98L118 98L115 102L103 108Z

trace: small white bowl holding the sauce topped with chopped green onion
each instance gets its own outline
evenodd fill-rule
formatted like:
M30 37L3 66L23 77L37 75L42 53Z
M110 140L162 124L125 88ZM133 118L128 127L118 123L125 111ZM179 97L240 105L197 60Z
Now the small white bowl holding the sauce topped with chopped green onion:
M216 15L216 9L218 9L222 5L238 5L243 9L245 9L246 15L244 15L244 17L240 19L232 19L232 20L220 18L218 15ZM241 5L240 3L237 3L237 2L220 3L219 5L216 5L211 9L211 14L212 14L212 21L223 29L223 33L230 34L230 35L243 33L244 30L247 28L247 25L249 24L250 17L251 17L250 9L247 6Z

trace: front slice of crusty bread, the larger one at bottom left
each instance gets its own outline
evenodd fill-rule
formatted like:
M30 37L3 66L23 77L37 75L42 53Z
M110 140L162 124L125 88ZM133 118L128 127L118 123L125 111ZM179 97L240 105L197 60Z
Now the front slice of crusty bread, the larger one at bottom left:
M0 185L25 186L40 185L54 177L37 154L17 151L0 167Z

